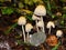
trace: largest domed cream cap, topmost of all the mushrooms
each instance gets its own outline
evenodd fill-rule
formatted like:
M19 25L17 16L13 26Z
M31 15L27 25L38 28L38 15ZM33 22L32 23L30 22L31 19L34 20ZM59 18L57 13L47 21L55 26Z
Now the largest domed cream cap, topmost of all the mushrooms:
M46 14L46 9L44 6L40 4L35 8L34 14L36 16L45 16Z

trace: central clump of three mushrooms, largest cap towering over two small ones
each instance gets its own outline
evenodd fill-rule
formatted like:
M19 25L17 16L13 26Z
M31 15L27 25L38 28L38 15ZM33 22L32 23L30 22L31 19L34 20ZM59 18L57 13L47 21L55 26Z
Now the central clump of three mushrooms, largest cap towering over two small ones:
M41 24L42 31L45 32L45 30L44 30L44 21L43 21L43 17L46 16L45 7L42 6L42 4L37 6L35 8L35 10L34 10L34 14L40 17L40 18L38 17L33 17L33 19L36 20L36 28L37 28L37 26L40 23L40 22L37 22L37 20L41 20L42 24L41 23L40 24ZM38 32L38 28L37 28L37 32Z

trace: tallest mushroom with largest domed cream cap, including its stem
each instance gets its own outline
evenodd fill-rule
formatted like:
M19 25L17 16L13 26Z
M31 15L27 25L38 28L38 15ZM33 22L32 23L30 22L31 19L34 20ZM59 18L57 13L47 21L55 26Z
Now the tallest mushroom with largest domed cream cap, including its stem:
M40 16L41 20L43 22L43 16L46 16L46 9L45 9L45 7L42 6L42 4L37 6L35 8L35 10L34 10L34 14ZM45 30L44 30L44 23L43 23L43 32L45 32Z

